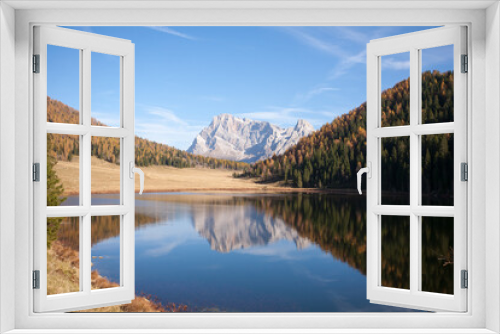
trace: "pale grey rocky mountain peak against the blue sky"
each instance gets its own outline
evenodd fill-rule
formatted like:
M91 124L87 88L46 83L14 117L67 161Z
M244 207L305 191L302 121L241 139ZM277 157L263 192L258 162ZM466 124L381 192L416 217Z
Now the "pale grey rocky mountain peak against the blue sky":
M313 126L305 120L298 120L294 127L283 129L269 122L221 114L196 136L187 152L253 163L283 154L312 132Z

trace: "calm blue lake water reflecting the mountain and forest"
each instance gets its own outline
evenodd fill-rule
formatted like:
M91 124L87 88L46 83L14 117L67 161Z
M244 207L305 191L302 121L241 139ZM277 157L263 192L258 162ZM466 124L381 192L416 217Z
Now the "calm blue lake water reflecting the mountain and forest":
M96 201L99 196L109 201L114 195L94 196ZM94 217L93 254L109 252L107 243L116 243L119 224L113 221L119 217ZM409 257L401 252L407 238L398 224L386 222L382 234L391 247L383 252L383 284L398 286L409 274L405 270ZM431 230L425 230L427 225ZM450 224L427 225L422 265L433 279L424 281L424 288L453 293L453 264L449 257L448 265L443 260L450 247L452 251L453 226L450 232ZM77 238L71 226L62 224L59 233L67 244L74 243L72 234ZM110 258L118 261L119 256ZM119 262L94 264L115 281L117 266ZM364 197L145 194L136 198L137 293L152 294L162 302L187 304L193 311L406 311L370 304L365 275Z

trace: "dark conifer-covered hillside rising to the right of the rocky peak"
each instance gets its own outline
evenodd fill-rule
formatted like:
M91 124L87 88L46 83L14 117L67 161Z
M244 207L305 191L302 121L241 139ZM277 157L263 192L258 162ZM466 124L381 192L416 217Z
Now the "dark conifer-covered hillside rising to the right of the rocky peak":
M383 126L409 124L409 85L406 79L382 92ZM453 72L423 73L422 88L422 121L453 121ZM383 139L382 146L383 190L407 192L408 138ZM451 192L453 135L424 136L422 149L423 192ZM253 164L241 176L258 177L264 182L283 180L299 188L355 189L356 172L365 166L365 156L366 103L363 103L302 138L284 154Z

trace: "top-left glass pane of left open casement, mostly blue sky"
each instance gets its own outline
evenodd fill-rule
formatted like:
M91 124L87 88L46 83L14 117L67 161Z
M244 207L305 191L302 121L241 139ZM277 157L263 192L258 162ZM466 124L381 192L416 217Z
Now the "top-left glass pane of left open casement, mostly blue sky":
M80 123L80 50L47 45L47 122Z

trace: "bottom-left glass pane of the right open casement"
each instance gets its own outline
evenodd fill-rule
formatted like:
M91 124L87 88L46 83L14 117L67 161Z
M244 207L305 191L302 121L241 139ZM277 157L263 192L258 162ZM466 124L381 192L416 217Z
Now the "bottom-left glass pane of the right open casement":
M382 285L410 288L410 217L382 216Z

